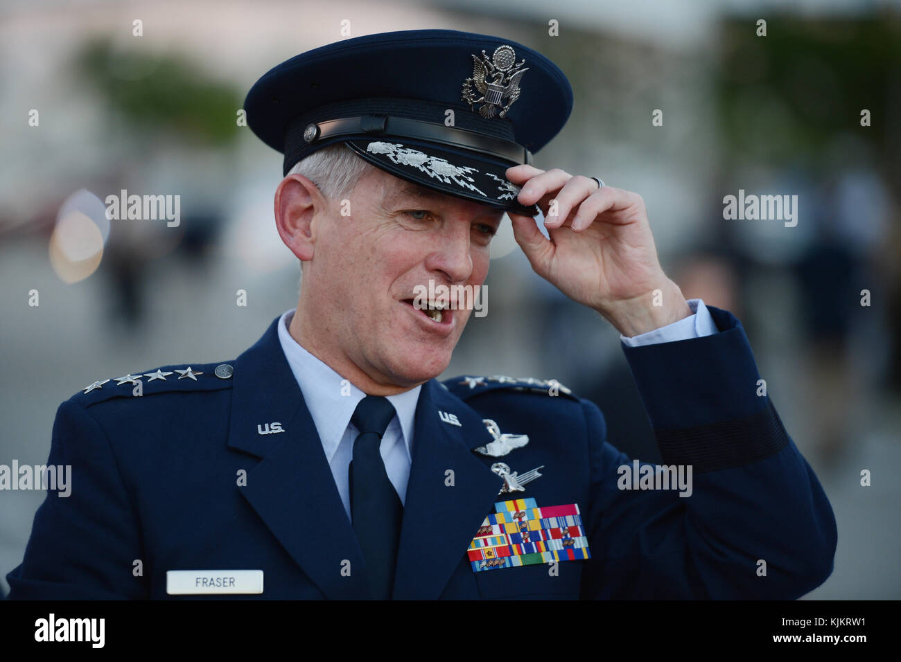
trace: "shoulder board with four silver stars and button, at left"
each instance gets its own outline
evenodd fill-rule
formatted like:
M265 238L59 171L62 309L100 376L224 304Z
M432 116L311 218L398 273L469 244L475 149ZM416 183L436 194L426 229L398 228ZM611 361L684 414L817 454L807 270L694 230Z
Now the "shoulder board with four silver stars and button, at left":
M118 377L104 377L86 385L72 400L89 406L116 397L135 397L192 391L218 391L232 387L234 361L176 365L127 373Z

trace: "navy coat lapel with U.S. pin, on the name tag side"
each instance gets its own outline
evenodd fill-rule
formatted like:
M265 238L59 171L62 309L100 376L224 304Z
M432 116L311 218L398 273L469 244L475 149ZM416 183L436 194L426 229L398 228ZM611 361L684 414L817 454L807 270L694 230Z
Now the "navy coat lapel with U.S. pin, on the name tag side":
M362 553L278 341L279 319L235 361L228 445L262 458L236 489L323 594L367 598ZM259 433L273 422L284 432ZM350 576L341 573L344 559Z

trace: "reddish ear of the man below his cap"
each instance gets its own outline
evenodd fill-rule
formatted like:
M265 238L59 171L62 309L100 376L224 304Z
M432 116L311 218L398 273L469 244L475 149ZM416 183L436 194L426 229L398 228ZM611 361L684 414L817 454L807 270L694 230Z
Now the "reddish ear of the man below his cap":
M313 259L314 217L324 213L326 206L319 188L303 175L288 175L278 185L275 199L278 234L297 258Z

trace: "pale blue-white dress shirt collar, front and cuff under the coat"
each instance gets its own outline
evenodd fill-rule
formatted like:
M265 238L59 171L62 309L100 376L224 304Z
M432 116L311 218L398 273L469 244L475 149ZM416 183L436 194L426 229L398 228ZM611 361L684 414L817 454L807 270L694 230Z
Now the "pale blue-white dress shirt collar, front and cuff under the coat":
M693 313L688 317L633 338L620 335L620 340L630 347L639 347L657 342L700 338L718 331L703 301L691 299L688 306ZM350 481L347 473L353 457L353 440L359 433L350 422L350 416L365 394L349 381L345 382L341 375L294 340L288 332L293 317L294 310L281 316L278 321L278 340L297 385L304 394L306 407L313 418L316 431L319 432L325 458L332 467L338 494L341 494L341 502L344 503L344 510L350 520ZM401 503L405 503L406 484L413 463L414 414L421 388L420 385L405 393L387 396L394 405L395 417L388 423L379 451L388 479L400 496Z

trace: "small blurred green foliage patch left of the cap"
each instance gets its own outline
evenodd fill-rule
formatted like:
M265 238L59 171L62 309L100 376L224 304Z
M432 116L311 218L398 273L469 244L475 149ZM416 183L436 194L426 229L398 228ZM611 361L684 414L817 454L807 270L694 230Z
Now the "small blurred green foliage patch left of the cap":
M177 131L211 147L227 146L237 136L238 92L180 56L123 51L98 39L86 42L75 68L135 129Z

